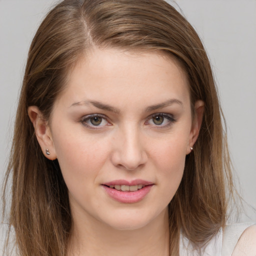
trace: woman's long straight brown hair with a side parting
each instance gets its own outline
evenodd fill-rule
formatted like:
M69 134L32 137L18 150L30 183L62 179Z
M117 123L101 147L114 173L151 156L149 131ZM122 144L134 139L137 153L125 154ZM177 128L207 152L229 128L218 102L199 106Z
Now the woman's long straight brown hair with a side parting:
M32 40L17 107L4 195L11 179L9 226L18 253L66 254L72 227L67 187L57 160L43 156L27 108L36 105L50 119L68 72L92 46L172 55L187 74L192 111L196 100L204 101L198 139L168 206L170 255L178 255L180 230L199 248L224 226L233 183L214 78L198 35L163 0L64 0Z

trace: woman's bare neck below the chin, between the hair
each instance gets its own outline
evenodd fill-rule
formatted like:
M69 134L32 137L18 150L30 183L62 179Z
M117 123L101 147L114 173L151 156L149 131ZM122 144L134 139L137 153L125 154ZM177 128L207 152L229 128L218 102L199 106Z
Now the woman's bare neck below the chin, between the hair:
M69 245L68 256L168 256L168 211L133 230L114 229L98 220L77 223L74 219Z

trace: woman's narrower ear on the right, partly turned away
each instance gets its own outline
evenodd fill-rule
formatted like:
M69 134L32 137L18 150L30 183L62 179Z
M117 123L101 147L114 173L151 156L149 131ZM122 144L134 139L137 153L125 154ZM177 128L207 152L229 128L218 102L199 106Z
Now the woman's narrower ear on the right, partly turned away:
M195 109L195 115L191 125L186 154L189 154L191 152L191 150L193 149L193 144L195 143L199 135L199 130L200 130L202 118L203 118L204 102L202 100L197 100L194 104L194 109Z

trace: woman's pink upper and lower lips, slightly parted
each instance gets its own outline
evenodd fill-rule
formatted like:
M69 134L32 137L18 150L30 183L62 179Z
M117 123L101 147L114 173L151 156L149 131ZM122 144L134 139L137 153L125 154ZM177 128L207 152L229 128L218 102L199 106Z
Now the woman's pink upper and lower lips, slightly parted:
M144 187L136 191L120 191L109 187L109 185L137 185L142 184ZM151 190L154 184L150 181L135 179L132 181L118 179L102 184L105 192L114 200L122 203L135 203L141 201Z

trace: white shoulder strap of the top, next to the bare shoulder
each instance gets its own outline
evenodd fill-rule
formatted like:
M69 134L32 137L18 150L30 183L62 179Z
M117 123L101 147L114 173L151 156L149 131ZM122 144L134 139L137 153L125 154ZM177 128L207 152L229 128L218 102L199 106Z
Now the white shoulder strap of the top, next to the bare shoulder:
M255 223L236 223L231 225L226 225L223 229L223 240L222 240L222 256L231 256L243 231Z

